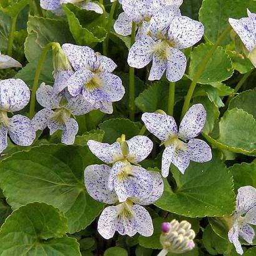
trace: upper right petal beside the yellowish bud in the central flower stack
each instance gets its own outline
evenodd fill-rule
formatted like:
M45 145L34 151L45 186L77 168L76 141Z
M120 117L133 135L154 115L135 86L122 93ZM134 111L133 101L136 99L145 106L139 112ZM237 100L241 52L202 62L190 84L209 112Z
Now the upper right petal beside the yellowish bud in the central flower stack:
M147 136L135 136L126 141L129 147L127 159L137 164L144 160L153 149L153 142Z

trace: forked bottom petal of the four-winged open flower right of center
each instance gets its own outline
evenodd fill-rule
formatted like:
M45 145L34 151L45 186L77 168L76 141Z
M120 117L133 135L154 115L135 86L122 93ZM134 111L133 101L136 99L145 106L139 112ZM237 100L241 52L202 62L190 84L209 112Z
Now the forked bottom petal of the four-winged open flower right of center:
M185 143L180 143L184 144L185 147ZM184 174L185 169L189 167L189 152L186 150L175 149L175 145L169 145L162 155L163 177L168 176L171 163L174 164L182 174Z

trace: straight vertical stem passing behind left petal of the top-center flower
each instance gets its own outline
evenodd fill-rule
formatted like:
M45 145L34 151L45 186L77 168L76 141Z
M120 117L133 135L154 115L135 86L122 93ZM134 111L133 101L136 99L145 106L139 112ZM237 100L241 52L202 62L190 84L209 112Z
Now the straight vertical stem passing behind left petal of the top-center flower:
M132 34L130 36L130 46L135 42L136 24L132 22ZM129 107L130 107L130 120L134 121L135 117L135 85L134 85L134 67L129 69Z

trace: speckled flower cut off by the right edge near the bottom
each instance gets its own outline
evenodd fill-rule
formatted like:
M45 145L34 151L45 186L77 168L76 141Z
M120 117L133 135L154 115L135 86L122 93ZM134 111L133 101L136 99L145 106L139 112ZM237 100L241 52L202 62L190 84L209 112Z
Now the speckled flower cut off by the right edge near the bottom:
M238 254L244 251L239 242L239 236L247 243L252 244L256 225L256 189L251 186L240 187L237 194L237 206L233 216L232 227L229 230L229 240L235 245Z

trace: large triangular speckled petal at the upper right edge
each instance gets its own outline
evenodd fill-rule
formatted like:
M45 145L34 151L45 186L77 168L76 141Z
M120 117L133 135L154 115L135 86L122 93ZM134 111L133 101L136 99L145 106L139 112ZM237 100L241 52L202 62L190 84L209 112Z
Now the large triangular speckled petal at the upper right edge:
M242 19L229 19L229 23L239 35L248 51L252 51L256 46L256 19L253 17L243 17Z

